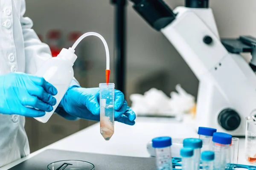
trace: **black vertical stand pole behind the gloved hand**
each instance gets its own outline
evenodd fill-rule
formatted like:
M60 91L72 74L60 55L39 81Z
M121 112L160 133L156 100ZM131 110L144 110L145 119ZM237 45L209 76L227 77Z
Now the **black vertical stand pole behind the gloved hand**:
M116 89L125 94L125 26L126 0L111 0L115 5L115 82Z

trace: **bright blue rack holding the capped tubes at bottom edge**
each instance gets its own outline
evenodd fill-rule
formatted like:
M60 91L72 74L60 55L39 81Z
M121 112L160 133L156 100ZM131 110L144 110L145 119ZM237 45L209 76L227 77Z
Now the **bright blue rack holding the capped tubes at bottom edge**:
M174 157L172 158L172 168L173 170L180 170L180 167L182 166L180 162L182 161L181 158ZM256 166L251 165L242 165L242 164L230 164L230 167L226 170L238 170L239 168L243 168L244 170L256 170ZM202 169L202 167L200 167Z

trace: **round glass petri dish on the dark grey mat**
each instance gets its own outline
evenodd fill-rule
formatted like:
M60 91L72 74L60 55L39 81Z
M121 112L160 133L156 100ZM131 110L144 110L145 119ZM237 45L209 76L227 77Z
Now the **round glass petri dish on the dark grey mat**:
M50 163L47 170L94 170L94 165L87 161L63 160Z

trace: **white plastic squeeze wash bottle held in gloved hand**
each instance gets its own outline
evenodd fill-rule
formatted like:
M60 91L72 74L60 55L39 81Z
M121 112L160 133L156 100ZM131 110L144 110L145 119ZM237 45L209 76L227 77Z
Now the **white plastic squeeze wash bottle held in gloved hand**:
M44 77L44 79L57 88L58 91L58 94L54 96L57 103L53 106L53 110L51 112L46 112L42 117L35 118L39 122L46 123L61 102L62 97L66 93L67 88L70 86L74 77L73 65L76 58L75 50L72 48L63 48L57 57L48 59L36 72L36 76Z

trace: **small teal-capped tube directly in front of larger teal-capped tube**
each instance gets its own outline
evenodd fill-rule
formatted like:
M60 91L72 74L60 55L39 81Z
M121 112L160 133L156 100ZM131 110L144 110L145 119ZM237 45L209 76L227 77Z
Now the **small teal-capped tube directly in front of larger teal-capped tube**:
M183 147L180 150L180 156L182 157L182 170L195 170L193 160L194 150L190 147Z

